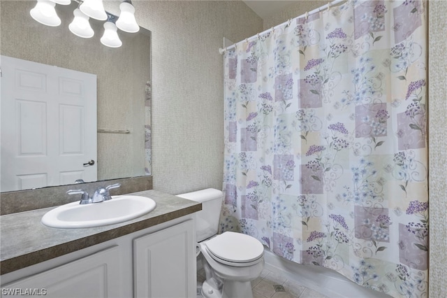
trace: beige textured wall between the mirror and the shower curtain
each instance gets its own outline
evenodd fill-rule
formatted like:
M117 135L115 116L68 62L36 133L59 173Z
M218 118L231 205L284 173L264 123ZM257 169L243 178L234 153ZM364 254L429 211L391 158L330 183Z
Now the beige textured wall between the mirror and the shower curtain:
M152 31L152 174L170 194L223 182L223 37L262 20L240 1L133 1Z

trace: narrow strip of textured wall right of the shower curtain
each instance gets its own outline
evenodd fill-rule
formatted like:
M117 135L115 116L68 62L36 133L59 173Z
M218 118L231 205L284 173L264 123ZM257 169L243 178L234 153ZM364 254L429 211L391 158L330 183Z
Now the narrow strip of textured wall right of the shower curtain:
M447 293L447 1L429 1L429 297Z

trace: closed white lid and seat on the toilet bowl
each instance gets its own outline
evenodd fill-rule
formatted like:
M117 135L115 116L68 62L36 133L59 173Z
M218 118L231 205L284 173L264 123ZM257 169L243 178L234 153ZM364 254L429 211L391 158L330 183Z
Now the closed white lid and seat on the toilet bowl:
M252 236L224 232L205 242L208 252L221 260L247 263L258 260L264 253L264 246Z

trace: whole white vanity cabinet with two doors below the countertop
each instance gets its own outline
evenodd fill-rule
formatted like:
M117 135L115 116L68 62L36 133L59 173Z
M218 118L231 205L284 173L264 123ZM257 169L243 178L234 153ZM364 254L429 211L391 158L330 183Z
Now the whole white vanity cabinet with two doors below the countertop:
M1 297L195 298L193 224L187 215L4 274Z

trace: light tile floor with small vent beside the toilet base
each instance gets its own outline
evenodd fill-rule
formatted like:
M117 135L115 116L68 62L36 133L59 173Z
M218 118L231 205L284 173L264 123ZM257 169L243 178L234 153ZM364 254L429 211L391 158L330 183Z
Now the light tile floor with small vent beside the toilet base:
M198 270L197 273L197 298L203 298L200 288L205 281L205 271ZM325 295L305 288L299 283L289 281L279 272L264 269L255 281L251 282L254 298L326 298Z

